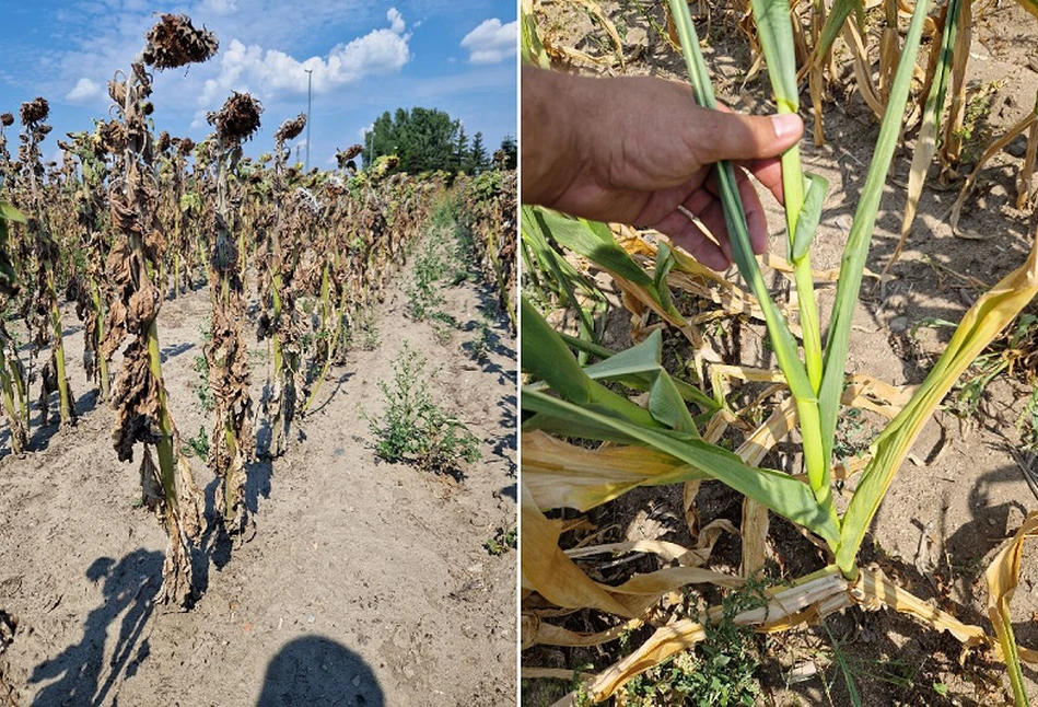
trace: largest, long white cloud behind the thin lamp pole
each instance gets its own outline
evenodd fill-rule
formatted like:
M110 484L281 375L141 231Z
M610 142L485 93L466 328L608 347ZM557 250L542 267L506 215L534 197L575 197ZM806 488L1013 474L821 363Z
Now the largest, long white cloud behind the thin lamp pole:
M327 57L304 61L278 49L265 49L258 44L246 46L232 39L222 51L219 76L205 82L198 102L200 111L193 125L201 125L205 112L219 107L232 91L249 91L268 101L305 93L307 70L313 71L314 93L399 71L411 58L411 35L405 33L407 25L396 8L389 9L386 20L388 28L373 30L349 44L336 45Z

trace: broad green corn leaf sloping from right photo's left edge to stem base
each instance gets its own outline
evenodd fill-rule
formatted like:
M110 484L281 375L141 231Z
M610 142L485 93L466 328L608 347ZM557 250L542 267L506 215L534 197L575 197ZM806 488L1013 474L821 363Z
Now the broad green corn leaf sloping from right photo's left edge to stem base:
M641 445L669 454L693 470L767 506L783 518L807 528L829 543L835 543L839 536L839 530L832 519L815 502L810 488L788 474L747 466L736 454L702 440L678 440L660 430L638 427L544 393L524 391L524 409L530 404L536 405L540 412L551 412L557 418L585 419L596 426L611 428L637 440Z

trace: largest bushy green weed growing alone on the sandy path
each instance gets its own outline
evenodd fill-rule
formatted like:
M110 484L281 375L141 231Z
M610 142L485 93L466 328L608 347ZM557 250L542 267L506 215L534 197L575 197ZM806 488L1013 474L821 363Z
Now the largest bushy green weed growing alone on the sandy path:
M460 475L463 463L482 457L479 438L432 401L425 359L407 341L393 362L393 381L378 381L386 404L382 419L364 415L387 462L411 461L420 468ZM430 376L432 378L432 376Z

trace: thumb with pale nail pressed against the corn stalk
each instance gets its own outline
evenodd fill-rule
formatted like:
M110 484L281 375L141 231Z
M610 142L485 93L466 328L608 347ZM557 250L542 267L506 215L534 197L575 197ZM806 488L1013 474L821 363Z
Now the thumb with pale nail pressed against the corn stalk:
M804 121L794 113L755 116L702 111L692 128L696 137L690 147L703 163L774 158L804 135Z

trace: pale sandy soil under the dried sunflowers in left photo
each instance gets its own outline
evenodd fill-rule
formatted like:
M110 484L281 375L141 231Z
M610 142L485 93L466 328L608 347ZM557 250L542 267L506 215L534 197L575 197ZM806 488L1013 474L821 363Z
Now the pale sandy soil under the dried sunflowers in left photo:
M250 467L255 536L233 550L210 537L187 613L152 602L163 532L136 507L136 467L116 461L113 413L71 361L79 426L36 428L36 451L0 460L0 606L20 619L0 673L16 705L514 704L515 553L482 546L515 523L514 339L497 317L489 359L463 349L478 308L493 306L466 282L443 291L460 328L438 344L405 317L410 267L376 308L377 346L333 370L305 439ZM185 440L211 425L193 392L208 311L198 290L159 322ZM66 326L74 358L82 331L71 314ZM382 412L377 381L405 341L440 369L435 398L482 440L460 483L376 461L361 414ZM266 361L257 347L254 399ZM213 479L193 463L211 508Z

